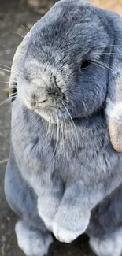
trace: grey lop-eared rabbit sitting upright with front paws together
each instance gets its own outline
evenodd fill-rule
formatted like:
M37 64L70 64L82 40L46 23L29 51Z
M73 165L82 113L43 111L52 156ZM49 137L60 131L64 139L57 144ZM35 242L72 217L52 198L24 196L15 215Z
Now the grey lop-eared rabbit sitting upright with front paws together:
M27 256L52 233L122 253L121 68L122 18L83 0L57 2L18 46L5 192Z

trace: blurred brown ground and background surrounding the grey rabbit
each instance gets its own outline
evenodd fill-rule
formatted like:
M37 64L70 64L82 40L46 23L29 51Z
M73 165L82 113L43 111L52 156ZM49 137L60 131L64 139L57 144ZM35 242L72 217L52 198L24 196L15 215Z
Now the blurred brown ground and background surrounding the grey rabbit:
M74 0L77 1L77 0ZM54 4L54 0L0 0L0 256L24 256L17 247L14 225L17 216L4 195L4 175L9 156L10 104L7 99L13 54L31 26ZM90 0L95 6L122 15L122 0ZM72 244L57 241L48 256L93 256L88 239L81 236Z

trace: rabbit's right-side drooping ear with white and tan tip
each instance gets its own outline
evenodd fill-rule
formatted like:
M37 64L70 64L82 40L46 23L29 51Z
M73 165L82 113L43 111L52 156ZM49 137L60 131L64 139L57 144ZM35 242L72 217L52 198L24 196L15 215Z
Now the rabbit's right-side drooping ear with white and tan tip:
M113 28L113 39L105 114L113 148L122 152L122 18L113 12L106 13Z

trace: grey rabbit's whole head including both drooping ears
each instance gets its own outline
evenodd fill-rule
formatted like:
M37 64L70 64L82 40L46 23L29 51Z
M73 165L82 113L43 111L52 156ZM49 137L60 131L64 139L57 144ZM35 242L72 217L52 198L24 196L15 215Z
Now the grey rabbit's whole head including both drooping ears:
M61 0L18 47L10 98L54 123L105 108L115 147L114 125L120 128L122 109L121 62L120 16L83 0Z

